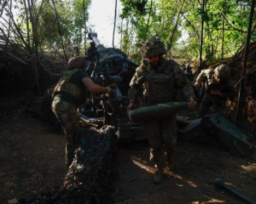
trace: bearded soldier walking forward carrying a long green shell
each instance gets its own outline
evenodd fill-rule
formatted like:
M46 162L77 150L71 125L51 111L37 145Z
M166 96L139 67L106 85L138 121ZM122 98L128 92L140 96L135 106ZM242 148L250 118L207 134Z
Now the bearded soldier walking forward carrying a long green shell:
M175 101L177 90L181 89L184 99L190 102L189 108L195 107L194 91L188 78L174 60L163 57L166 54L164 43L152 37L143 42L142 54L148 60L143 60L143 64L137 67L131 79L128 93L130 104L127 106L127 111L135 107L141 89L143 89L145 105ZM160 184L165 164L169 170L176 167L176 117L173 115L161 120L148 120L144 125L148 132L150 160L154 162L155 167L153 181L155 184Z

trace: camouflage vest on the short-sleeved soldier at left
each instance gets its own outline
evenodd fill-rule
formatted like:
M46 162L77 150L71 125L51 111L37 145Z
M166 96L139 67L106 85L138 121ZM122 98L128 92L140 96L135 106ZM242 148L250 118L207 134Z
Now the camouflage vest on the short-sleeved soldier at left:
M82 94L82 88L80 88L73 82L69 82L73 75L78 72L78 69L74 69L73 71L68 71L67 73L64 73L60 81L55 86L53 94L67 93L73 95L73 97L79 100Z

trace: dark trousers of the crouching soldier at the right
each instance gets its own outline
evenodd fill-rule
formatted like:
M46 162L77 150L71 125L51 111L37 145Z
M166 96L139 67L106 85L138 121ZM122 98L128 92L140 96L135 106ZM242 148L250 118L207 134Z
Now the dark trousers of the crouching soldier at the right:
M208 111L210 111L210 108L212 107L212 111L210 114L213 114L213 112L224 112L224 100L220 99L219 97L207 97L207 95L204 96L204 98L201 100L200 110L198 113L199 117L206 116Z

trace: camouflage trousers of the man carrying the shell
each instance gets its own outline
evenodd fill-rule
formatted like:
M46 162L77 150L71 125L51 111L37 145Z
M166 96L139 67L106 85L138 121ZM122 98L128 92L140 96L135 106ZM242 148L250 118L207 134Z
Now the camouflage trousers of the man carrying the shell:
M148 120L144 125L150 145L150 161L153 161L157 168L164 167L166 163L171 164L177 143L175 116L164 120Z

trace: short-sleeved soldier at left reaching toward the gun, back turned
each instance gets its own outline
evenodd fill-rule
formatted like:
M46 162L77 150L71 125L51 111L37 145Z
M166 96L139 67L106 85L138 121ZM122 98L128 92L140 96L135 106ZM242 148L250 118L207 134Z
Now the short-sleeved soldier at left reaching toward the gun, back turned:
M79 130L79 116L77 108L86 90L94 93L110 94L110 88L103 88L92 82L85 71L82 70L84 59L73 57L68 60L67 73L63 74L53 91L52 111L61 122L66 137L66 163L67 167L73 161L75 149L74 137Z

